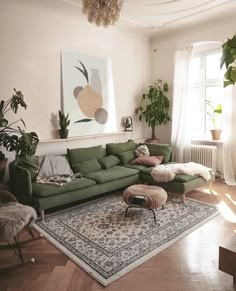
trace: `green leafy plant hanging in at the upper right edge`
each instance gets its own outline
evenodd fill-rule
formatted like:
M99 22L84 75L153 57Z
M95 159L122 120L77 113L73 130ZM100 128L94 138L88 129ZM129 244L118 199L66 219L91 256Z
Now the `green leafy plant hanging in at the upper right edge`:
M234 85L236 82L236 35L229 38L223 45L223 53L221 57L220 67L226 66L224 75L224 87Z

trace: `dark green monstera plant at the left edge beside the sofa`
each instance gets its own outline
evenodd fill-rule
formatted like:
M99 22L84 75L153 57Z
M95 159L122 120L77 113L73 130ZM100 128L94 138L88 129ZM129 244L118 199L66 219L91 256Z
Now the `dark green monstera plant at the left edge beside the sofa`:
M14 89L12 97L0 102L0 183L3 182L7 159L3 152L14 152L16 158L24 158L35 154L39 142L38 135L35 132L25 132L22 128L14 125L25 122L22 119L9 123L7 113L12 111L17 113L19 106L26 109L27 105L24 96L20 91Z

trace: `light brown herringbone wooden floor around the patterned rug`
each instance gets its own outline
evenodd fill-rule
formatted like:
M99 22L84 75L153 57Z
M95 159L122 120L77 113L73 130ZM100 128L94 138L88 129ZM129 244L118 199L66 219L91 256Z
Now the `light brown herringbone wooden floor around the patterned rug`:
M236 235L236 187L222 181L188 197L217 204L221 215L192 232L105 288L106 291L236 290L232 277L218 270L219 245ZM0 291L98 291L104 287L68 260L45 239L23 248L35 264L0 274ZM0 250L0 265L18 262L12 251Z

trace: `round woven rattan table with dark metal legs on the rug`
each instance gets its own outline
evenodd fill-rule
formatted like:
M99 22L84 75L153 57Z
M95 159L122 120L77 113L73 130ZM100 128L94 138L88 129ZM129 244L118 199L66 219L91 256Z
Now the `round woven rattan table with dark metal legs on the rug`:
M123 198L128 205L125 216L127 216L128 210L131 207L146 208L153 212L154 221L156 222L156 215L153 209L159 207L164 209L167 193L161 187L137 184L126 188L123 193Z

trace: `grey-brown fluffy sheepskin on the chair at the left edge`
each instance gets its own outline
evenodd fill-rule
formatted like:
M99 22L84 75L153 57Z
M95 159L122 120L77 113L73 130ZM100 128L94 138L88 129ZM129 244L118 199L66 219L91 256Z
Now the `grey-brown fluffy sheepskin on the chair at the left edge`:
M0 204L0 241L10 241L37 218L36 211L18 202Z

